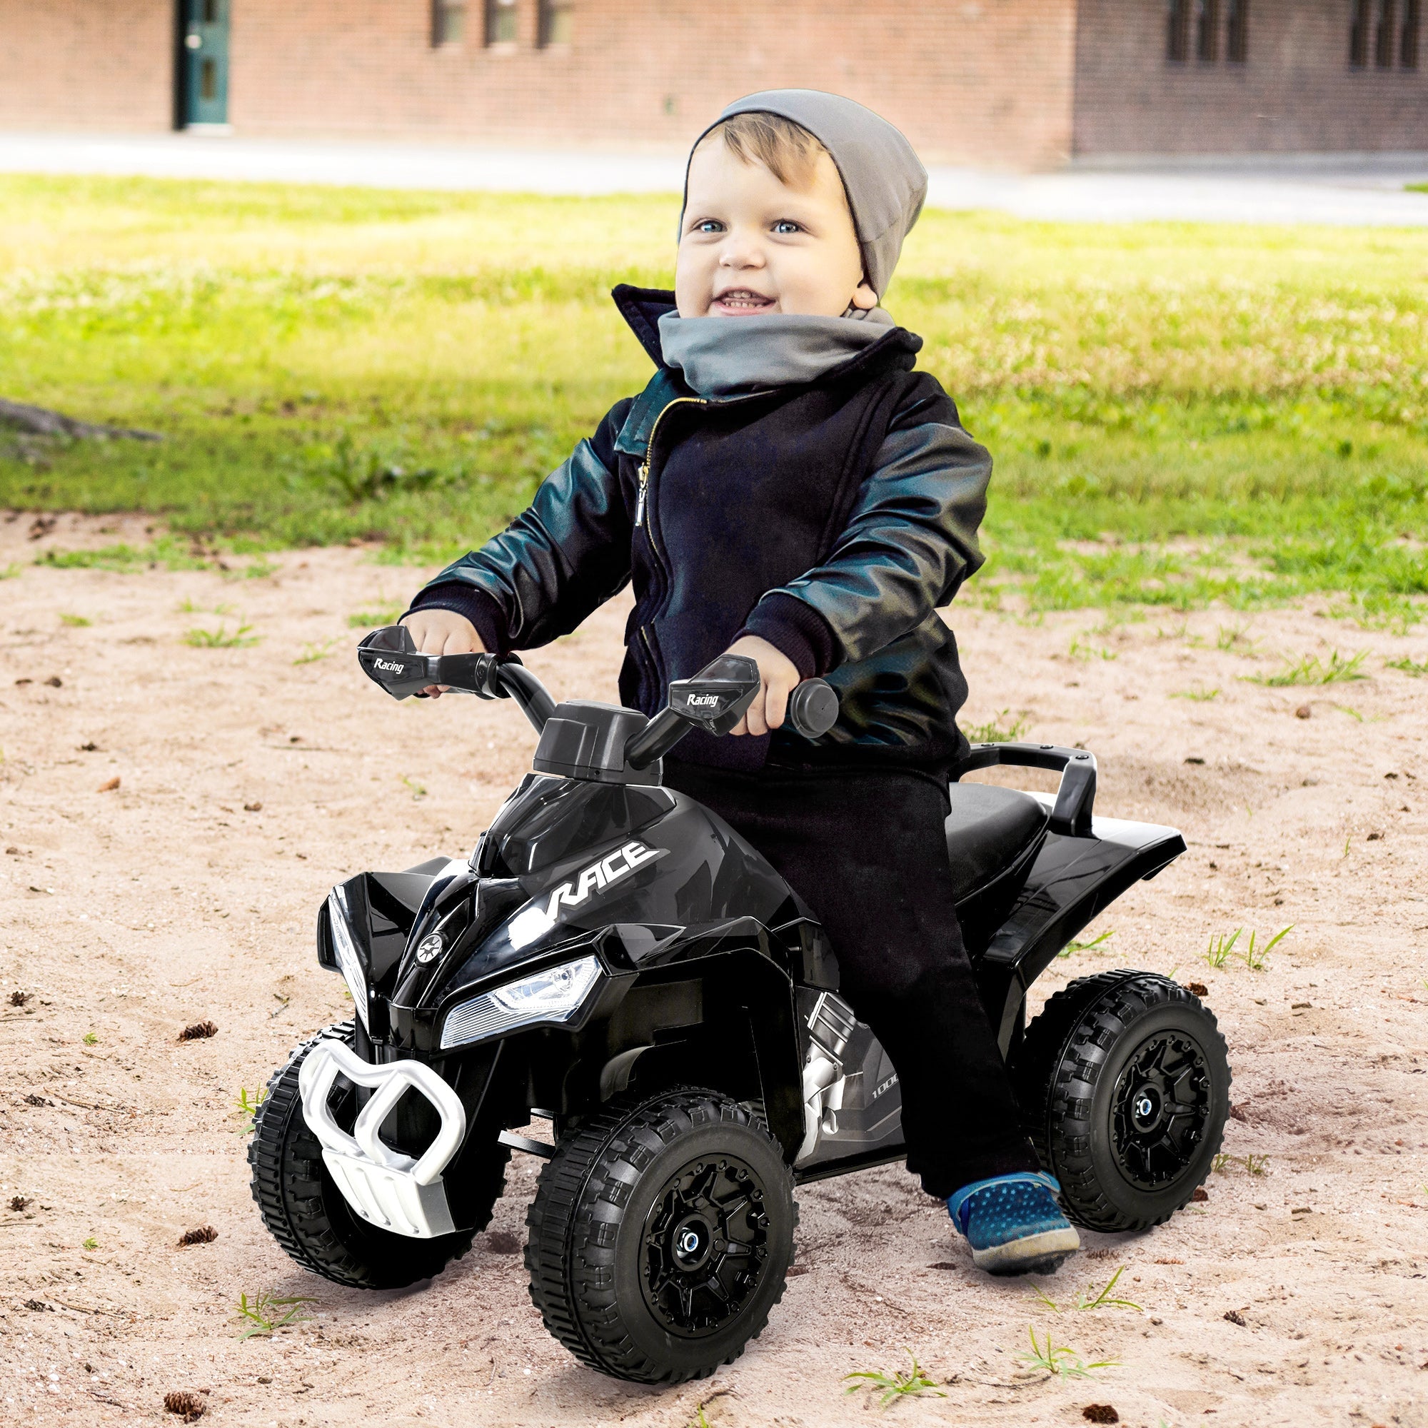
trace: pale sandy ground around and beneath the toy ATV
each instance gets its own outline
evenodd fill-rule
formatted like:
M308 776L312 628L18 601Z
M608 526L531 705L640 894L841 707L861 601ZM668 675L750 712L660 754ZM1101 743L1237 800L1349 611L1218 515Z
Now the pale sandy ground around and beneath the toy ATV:
M804 1272L763 1338L654 1391L543 1331L517 1252L528 1158L476 1250L401 1294L304 1274L248 1198L240 1090L348 1005L314 960L318 901L353 871L468 851L530 757L520 714L398 705L361 677L348 615L421 571L364 550L247 578L33 564L143 540L141 523L107 526L61 517L31 540L29 514L0 514L0 570L19 565L0 581L0 1419L173 1421L164 1394L190 1389L214 1424L870 1422L843 1375L908 1348L947 1397L888 1409L902 1422L1071 1424L1098 1402L1147 1428L1428 1425L1428 680L1387 667L1428 657L1422 631L1315 608L1110 628L955 611L971 723L1087 744L1101 813L1185 831L1188 854L1044 991L1112 965L1205 982L1238 1160L1165 1227L1087 1235L1045 1285L1057 1314L974 1274L901 1168L808 1187ZM557 694L611 697L621 618L607 608L533 667ZM260 643L184 643L220 624ZM1368 677L1252 683L1329 650L1368 651ZM1287 924L1265 971L1201 960L1212 934ZM204 1018L217 1035L178 1041ZM178 1248L204 1224L216 1241ZM1117 1292L1141 1309L1070 1307L1122 1265ZM310 1295L311 1318L240 1341L244 1292ZM1117 1364L1028 1374L1028 1325Z

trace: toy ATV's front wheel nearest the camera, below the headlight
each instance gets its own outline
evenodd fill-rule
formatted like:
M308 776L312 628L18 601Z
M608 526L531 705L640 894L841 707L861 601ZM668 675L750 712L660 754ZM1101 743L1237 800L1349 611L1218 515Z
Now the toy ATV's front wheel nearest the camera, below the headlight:
M531 1299L591 1368L713 1374L784 1292L798 1207L778 1142L720 1091L623 1097L560 1144L526 1224Z

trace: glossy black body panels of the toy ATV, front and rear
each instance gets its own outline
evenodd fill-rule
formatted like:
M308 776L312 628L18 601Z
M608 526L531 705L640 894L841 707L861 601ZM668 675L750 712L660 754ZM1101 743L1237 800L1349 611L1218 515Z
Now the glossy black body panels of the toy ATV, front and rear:
M1065 942L1184 851L1172 828L1091 818L1094 763L1080 751L1034 754L1075 760L1070 794L1061 765L1061 825L1087 831L1042 833L958 904L1004 1054L1027 988ZM800 1181L902 1154L897 1075L835 997L837 958L823 930L753 847L681 794L527 775L470 863L438 858L343 887L380 1010L370 1055L438 1067L470 1101L468 1145L523 1124L531 1107L548 1108L560 1131L628 1085L694 1081L761 1102ZM327 917L324 907L320 960L336 965ZM604 980L574 1021L440 1048L453 1007L590 952ZM825 1098L810 1120L805 1075L823 1054L811 1028L827 995L847 1035L837 1104ZM420 1138L420 1125L408 1130Z

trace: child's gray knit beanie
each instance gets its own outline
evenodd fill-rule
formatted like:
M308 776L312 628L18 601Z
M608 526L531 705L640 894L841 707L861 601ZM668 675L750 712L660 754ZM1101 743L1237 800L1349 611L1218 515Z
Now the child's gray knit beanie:
M825 94L823 90L761 90L734 100L694 141L690 157L694 157L694 149L703 143L704 134L735 114L780 114L791 119L828 150L848 194L868 286L881 298L902 251L902 238L917 223L927 197L927 170L902 133L871 109L841 94ZM685 164L685 201L688 191ZM684 204L680 206L681 231L683 227Z

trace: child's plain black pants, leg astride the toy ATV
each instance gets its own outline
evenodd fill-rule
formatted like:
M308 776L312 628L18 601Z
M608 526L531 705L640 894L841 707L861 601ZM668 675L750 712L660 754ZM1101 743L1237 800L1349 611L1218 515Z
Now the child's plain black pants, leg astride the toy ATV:
M952 902L945 788L897 771L730 773L665 763L778 870L833 942L843 994L902 1084L908 1170L947 1198L1037 1170Z

